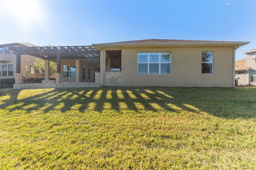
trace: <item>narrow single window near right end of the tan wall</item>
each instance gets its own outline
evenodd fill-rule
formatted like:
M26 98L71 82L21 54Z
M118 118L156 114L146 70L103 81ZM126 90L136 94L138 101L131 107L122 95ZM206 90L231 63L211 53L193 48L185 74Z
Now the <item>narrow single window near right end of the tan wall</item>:
M202 51L202 74L212 74L213 51Z

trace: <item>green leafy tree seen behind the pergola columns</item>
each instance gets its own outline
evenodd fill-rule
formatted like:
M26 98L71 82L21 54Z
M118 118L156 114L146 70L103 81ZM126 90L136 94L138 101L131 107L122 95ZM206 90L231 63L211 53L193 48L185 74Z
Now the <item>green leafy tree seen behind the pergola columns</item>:
M38 75L41 75L42 77L44 77L44 73L45 73L45 62L43 59L39 59L36 58L36 62L34 62L35 65L35 72ZM50 61L50 72L49 72L49 76L53 75L54 73L57 72L57 63Z

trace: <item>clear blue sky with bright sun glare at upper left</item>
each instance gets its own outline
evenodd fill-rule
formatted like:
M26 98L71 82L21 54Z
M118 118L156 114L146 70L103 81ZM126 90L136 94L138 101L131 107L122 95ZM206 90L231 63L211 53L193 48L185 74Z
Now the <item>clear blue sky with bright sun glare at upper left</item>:
M256 0L0 0L0 44L91 45L146 39L250 42Z

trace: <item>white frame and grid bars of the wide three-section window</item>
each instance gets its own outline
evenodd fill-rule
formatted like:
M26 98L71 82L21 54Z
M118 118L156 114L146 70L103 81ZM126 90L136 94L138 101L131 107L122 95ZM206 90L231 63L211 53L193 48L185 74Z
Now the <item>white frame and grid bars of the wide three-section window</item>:
M139 62L139 54L140 53L148 53L148 57L147 57L147 62ZM158 62L150 62L150 53L158 53ZM170 53L170 61L169 62L161 62L161 53ZM137 55L138 58L138 65L137 65L137 70L138 70L138 74L151 74L151 75L171 75L172 74L172 52L168 51L168 52L138 52ZM139 73L139 64L147 64L148 67L148 73ZM158 73L150 73L150 64L159 64L159 70ZM161 73L161 64L170 64L170 73Z

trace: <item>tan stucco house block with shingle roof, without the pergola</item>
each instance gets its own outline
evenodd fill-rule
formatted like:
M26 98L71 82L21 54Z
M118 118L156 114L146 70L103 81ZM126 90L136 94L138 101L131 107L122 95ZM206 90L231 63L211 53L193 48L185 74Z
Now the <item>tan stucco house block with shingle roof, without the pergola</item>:
M234 87L235 50L249 42L137 40L92 44L102 86ZM120 67L120 71L111 68Z

